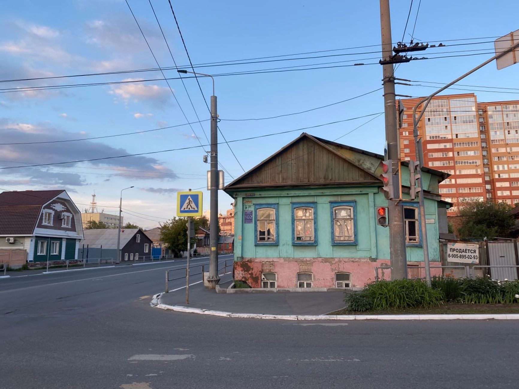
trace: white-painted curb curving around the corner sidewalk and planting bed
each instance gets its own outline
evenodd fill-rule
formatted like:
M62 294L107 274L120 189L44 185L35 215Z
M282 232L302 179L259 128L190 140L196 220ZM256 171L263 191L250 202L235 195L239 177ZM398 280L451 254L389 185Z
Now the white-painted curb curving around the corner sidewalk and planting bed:
M160 302L162 293L153 296L152 307L184 313L198 313L200 315L237 317L250 319L275 319L275 320L519 320L519 314L468 314L468 315L272 315L264 313L232 313L213 311L210 309L187 308L181 305L168 305Z

